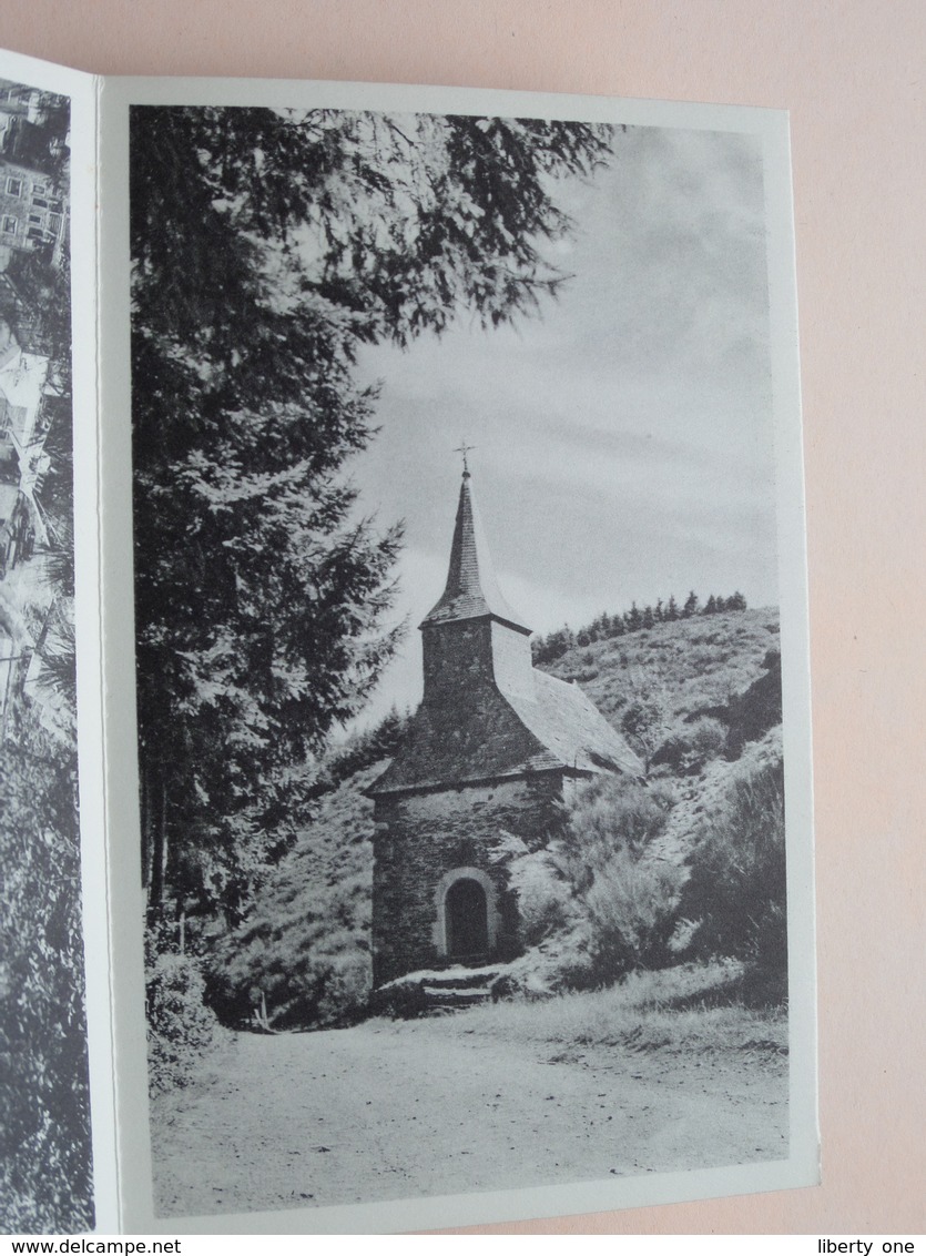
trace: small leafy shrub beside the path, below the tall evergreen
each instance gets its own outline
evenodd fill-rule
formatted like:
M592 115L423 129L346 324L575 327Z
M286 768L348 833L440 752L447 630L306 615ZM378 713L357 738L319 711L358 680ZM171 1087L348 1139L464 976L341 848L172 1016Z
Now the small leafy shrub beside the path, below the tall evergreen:
M153 1093L186 1085L218 1032L205 1006L198 961L188 955L156 956L146 975L148 1079Z

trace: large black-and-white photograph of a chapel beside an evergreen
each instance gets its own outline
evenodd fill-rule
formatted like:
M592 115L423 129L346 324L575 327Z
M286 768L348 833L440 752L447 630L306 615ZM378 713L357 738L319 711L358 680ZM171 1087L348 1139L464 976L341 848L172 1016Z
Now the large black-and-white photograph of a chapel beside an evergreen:
M806 1150L788 172L734 113L130 107L156 1218Z

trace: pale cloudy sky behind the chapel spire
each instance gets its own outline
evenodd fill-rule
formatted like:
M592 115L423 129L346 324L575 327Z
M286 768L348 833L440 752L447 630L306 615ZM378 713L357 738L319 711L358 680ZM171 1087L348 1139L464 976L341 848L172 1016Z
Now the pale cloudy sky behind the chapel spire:
M420 697L463 438L499 584L537 632L691 588L778 600L759 141L636 128L614 149L558 187L573 278L541 317L364 353L381 431L351 474L365 512L405 520L410 624L364 723Z

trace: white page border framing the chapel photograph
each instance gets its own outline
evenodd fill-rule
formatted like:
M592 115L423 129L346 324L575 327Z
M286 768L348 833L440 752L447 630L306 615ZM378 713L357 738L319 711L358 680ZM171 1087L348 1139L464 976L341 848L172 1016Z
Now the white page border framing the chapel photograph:
M128 109L133 104L326 107L560 118L742 132L764 144L778 482L782 659L788 794L790 1156L769 1164L438 1198L208 1217L156 1218L142 993L138 764L132 615L128 291ZM811 1186L819 1179L809 723L809 639L799 418L794 231L787 114L551 93L282 79L104 80L100 108L100 330L107 735L117 1112L123 1225L136 1232L301 1233L463 1226Z

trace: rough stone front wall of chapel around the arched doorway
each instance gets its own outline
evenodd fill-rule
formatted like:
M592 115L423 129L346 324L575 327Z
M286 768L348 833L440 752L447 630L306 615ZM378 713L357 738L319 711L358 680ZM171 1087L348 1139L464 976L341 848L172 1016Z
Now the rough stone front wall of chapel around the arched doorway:
M561 775L551 772L376 799L374 985L447 963L437 936L437 896L442 878L454 868L478 868L494 885L498 936L493 958L519 953L517 904L492 854L504 833L516 834L532 850L546 845L560 823L562 786Z

